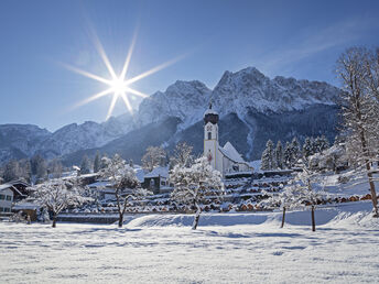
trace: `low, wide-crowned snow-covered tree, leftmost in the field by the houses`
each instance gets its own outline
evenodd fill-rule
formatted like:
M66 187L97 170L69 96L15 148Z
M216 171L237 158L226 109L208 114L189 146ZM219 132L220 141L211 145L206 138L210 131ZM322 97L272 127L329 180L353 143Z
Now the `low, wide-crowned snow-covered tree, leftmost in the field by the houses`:
M29 188L35 201L53 215L53 228L56 227L57 215L69 206L77 206L89 198L83 195L83 187L76 181L51 179Z

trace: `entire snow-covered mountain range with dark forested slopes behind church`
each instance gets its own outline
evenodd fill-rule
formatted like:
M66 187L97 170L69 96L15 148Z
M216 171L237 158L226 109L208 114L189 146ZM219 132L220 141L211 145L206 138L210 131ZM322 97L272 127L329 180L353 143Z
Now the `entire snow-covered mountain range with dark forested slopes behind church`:
M270 79L253 67L225 72L213 90L198 80L177 80L145 98L134 117L126 113L102 123L73 123L53 133L36 125L2 124L0 163L36 153L72 163L96 150L139 160L148 144L171 149L181 140L201 152L202 119L209 101L220 113L220 142L232 142L252 160L267 139L283 142L293 135L318 134L333 139L338 91L326 83Z

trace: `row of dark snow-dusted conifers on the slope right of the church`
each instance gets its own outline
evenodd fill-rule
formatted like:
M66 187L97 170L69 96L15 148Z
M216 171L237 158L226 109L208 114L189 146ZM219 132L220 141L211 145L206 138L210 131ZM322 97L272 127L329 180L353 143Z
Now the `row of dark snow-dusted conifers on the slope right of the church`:
M285 143L283 149L282 142L279 140L274 148L273 142L269 140L266 143L266 149L261 157L261 170L274 168L292 168L301 157L310 157L316 153L321 153L329 148L328 140L322 135L317 138L306 138L304 144L301 146L299 140L293 140Z

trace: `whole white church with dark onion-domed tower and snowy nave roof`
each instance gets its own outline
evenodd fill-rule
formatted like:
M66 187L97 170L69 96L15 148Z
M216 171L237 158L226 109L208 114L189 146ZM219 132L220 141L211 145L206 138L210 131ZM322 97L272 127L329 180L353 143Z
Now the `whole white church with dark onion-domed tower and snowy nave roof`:
M212 109L212 103L204 113L204 156L223 174L223 177L252 172L250 165L243 161L230 142L224 148L218 144L218 113Z

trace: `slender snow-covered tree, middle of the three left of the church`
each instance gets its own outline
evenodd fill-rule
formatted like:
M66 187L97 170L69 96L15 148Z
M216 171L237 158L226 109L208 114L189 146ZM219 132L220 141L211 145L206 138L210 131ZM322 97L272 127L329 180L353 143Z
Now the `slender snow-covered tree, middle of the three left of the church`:
M123 215L128 205L130 205L130 201L151 193L141 188L140 182L136 177L134 170L127 165L126 161L118 154L112 159L102 157L102 163L106 167L100 171L100 174L102 177L109 178L113 185L119 214L118 226L121 228L123 223Z

